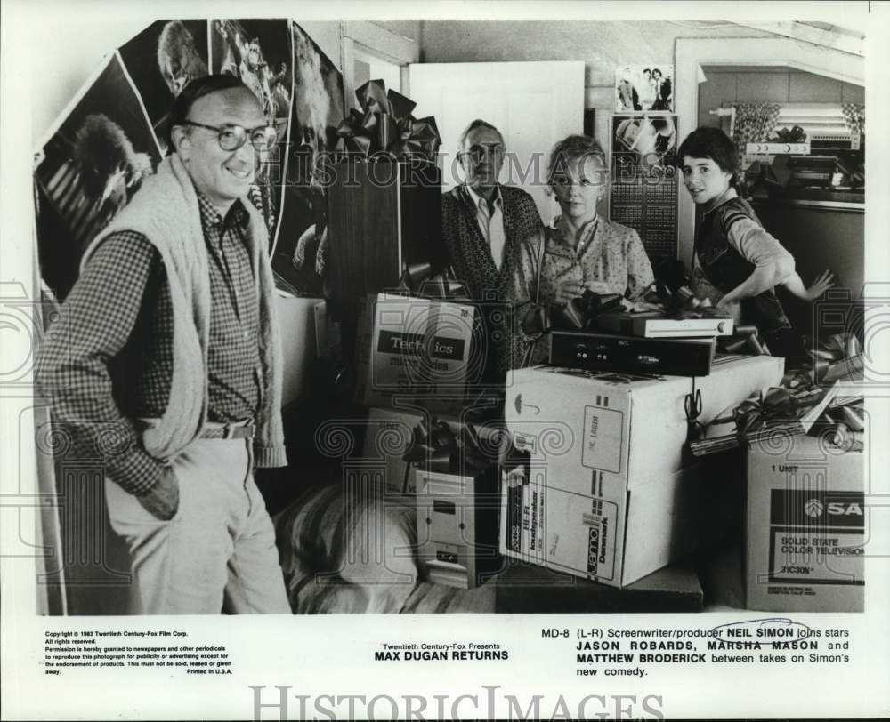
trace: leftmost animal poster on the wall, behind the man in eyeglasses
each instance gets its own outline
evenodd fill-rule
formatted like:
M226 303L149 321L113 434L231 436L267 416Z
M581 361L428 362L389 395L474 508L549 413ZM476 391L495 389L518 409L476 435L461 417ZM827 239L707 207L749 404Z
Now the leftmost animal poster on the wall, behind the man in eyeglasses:
M44 284L62 301L86 246L161 159L142 102L117 53L37 153L37 253Z

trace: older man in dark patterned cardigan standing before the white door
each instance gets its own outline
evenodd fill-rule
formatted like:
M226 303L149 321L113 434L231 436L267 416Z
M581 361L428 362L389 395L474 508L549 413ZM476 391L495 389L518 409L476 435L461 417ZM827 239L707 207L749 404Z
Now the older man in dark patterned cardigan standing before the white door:
M458 159L462 185L442 196L442 237L451 266L473 299L509 303L509 280L522 240L543 228L538 207L522 189L498 182L506 148L498 129L477 119L461 133ZM494 308L494 307L492 307ZM484 309L484 307L483 307ZM512 332L486 318L487 375L501 381L510 364Z

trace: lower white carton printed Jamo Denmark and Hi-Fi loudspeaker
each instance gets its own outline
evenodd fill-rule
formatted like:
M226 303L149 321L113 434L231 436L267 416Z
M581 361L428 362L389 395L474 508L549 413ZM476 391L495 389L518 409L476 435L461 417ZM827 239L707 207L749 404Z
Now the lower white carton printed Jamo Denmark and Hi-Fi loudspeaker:
M502 487L501 553L627 586L738 528L741 466L695 464L600 495L550 486L532 468L529 484Z

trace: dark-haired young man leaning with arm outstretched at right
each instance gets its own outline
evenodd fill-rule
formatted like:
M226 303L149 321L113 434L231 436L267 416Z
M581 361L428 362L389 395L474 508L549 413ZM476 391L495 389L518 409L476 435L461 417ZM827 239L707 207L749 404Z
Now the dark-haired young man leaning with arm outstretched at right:
M692 290L757 326L774 356L797 367L807 361L803 343L776 298L776 285L813 300L830 287L823 274L804 290L794 257L767 233L734 185L736 148L718 128L699 128L677 154L686 190L700 209L695 229Z

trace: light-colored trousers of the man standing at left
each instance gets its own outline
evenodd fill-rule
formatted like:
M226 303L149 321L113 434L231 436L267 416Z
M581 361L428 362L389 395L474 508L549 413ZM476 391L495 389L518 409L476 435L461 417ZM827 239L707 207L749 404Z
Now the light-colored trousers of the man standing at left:
M133 614L290 614L250 439L197 439L173 461L179 509L161 521L105 480L130 549Z

